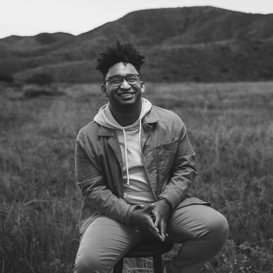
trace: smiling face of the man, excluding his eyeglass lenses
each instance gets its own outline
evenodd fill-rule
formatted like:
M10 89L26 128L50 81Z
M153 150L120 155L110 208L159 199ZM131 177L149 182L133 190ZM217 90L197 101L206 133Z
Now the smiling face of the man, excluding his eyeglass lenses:
M138 74L132 64L116 63L109 68L106 80L114 75L127 76L130 74ZM141 94L144 93L144 90L144 84L140 80L135 85L130 85L125 79L120 86L112 85L111 81L102 85L102 94L108 98L111 109L141 105Z

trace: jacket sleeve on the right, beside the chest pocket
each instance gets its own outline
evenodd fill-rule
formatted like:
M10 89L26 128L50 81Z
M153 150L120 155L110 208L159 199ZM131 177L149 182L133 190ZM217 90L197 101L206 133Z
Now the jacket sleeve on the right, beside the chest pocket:
M174 209L185 197L197 174L195 167L195 153L192 149L186 126L183 121L174 114L180 133L179 144L171 167L171 179L165 186L158 199L164 199Z

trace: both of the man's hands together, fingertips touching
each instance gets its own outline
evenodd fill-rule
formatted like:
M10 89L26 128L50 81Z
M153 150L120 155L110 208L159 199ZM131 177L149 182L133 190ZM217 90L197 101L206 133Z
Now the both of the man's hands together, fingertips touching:
M133 211L130 224L148 230L152 235L164 242L168 237L166 222L170 213L170 206L164 200L159 200L152 204L140 205L140 207L140 209ZM153 212L155 223L149 214L150 212Z

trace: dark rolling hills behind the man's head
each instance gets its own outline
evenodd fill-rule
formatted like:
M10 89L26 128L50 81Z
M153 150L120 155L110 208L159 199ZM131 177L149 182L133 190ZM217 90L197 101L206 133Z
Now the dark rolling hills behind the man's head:
M0 73L24 81L35 73L56 82L100 81L96 52L116 37L146 55L147 81L273 79L273 14L215 7L134 11L86 33L42 33L0 39ZM143 78L144 79L144 78Z

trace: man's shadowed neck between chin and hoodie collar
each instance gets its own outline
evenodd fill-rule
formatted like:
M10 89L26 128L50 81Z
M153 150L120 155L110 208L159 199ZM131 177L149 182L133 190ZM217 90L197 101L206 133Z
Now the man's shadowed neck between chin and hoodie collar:
M110 109L112 112L113 117L117 121L118 124L120 124L122 127L130 126L133 123L135 123L141 113L142 108L142 102L140 100L140 103L138 105L134 106L128 106L121 108L115 108L115 106L110 105Z

